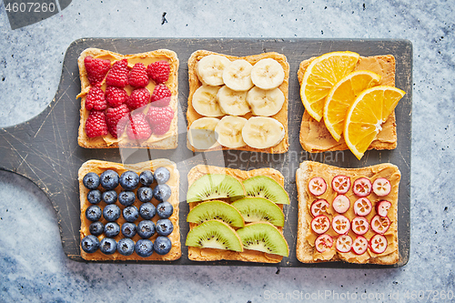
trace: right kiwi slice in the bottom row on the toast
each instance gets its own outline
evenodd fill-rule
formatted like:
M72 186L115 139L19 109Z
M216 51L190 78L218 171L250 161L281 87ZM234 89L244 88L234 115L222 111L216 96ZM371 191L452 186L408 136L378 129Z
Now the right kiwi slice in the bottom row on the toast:
M243 247L278 256L289 256L288 242L277 227L267 222L250 223L238 229Z

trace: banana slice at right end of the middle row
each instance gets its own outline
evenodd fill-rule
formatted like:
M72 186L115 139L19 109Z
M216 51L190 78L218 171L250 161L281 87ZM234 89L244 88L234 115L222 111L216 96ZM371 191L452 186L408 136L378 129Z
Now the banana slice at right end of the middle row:
M285 96L279 88L264 90L258 86L248 91L247 102L255 116L273 116L283 107Z

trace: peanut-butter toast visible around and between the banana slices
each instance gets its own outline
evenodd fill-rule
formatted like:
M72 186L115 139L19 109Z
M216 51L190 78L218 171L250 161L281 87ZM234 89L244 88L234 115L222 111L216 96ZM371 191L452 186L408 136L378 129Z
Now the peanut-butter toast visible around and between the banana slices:
M187 107L187 123L188 123L188 129L191 124L197 120L200 117L203 117L199 114L197 114L196 110L192 106L192 100L193 100L193 95L196 92L197 88L202 86L202 83L199 81L197 78L197 62L199 62L200 59L202 59L204 56L208 55L220 55L220 56L226 56L227 59L234 61L237 59L244 59L247 60L251 65L255 65L259 60L265 59L265 58L272 58L278 61L278 63L283 66L283 69L285 71L285 78L283 83L278 86L278 88L283 92L285 96L285 102L281 108L280 111L274 116L270 116L274 119L277 119L278 122L280 122L284 127L285 127L285 136L281 140L281 142L278 143L276 146L268 147L268 148L263 148L263 149L258 149L258 148L253 148L250 146L242 146L238 148L229 148L226 146L216 146L212 147L210 149L205 149L205 150L199 150L196 149L195 147L191 146L189 144L189 141L187 140L187 147L188 149L192 151L210 151L210 150L227 150L227 149L236 149L236 150L247 150L247 151L257 151L257 152L263 152L263 153L270 153L270 154L282 154L288 151L289 147L289 142L288 142L288 86L289 86L289 64L286 56L278 54L278 53L264 53L264 54L259 54L259 55L253 55L253 56L228 56L228 55L223 55L223 54L217 54L214 52L210 52L207 50L197 50L194 52L188 59L188 81L189 81L189 95L188 95L188 107ZM248 113L247 115L244 115L243 117L249 118L251 117L252 114ZM219 116L218 118L221 118Z

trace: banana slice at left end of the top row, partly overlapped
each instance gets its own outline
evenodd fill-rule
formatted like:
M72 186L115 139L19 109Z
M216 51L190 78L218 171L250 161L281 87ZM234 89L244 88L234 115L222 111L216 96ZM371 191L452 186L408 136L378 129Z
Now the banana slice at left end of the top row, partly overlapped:
M206 86L222 86L223 71L230 60L226 56L208 55L197 62L196 74L200 82Z

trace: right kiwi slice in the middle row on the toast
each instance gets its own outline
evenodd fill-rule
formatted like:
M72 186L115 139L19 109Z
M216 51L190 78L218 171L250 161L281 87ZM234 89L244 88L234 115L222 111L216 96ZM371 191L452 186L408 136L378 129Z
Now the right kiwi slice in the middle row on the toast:
M284 226L281 209L265 197L244 197L231 204L242 214L245 222L267 221L277 227Z

